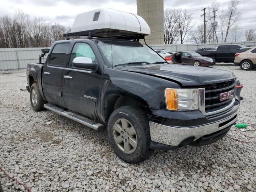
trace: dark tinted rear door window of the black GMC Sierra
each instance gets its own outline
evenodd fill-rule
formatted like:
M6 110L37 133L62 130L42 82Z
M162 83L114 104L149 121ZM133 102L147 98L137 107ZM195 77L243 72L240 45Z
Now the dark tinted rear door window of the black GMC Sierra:
M56 44L50 56L50 65L64 66L69 46L69 43Z

